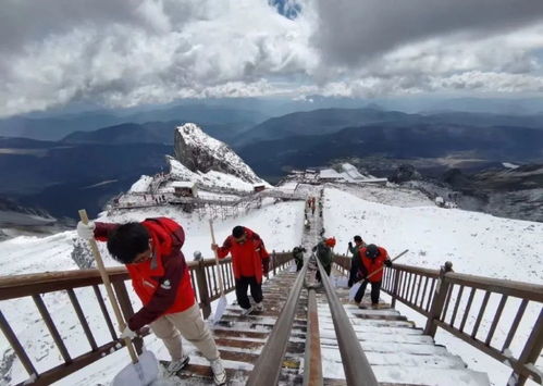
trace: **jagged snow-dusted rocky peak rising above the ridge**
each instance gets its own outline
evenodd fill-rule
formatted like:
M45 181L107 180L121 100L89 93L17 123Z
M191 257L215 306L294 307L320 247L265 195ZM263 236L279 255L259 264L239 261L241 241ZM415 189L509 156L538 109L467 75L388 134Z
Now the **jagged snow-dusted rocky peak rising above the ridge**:
M177 127L174 149L175 159L192 172L215 171L249 184L264 183L231 148L208 136L194 123Z

